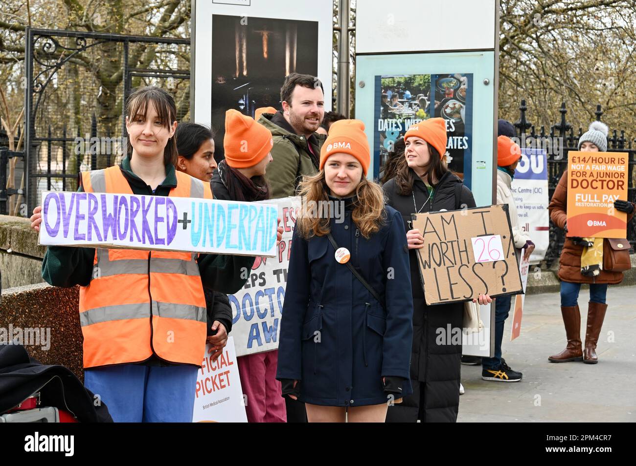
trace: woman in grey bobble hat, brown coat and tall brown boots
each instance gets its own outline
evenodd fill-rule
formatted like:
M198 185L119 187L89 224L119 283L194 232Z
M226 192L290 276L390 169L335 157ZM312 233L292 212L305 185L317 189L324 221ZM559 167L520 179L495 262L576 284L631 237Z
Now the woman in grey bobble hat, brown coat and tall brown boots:
M590 124L590 129L579 138L578 149L581 152L605 152L607 150L607 134L609 128L600 121ZM556 185L550 201L550 219L567 233L567 176L564 171ZM633 219L636 204L617 199L614 209L627 214L627 222ZM567 363L583 361L587 364L598 363L596 347L598 335L603 326L607 310L607 285L621 283L623 272L607 270L604 267L604 255L609 248L625 248L620 251L625 255L628 269L630 262L630 243L627 239L565 237L563 250L559 257L558 277L561 280L561 316L565 326L567 346L552 356L551 363ZM605 252L607 251L607 252ZM585 331L585 344L581 345L581 312L579 311L579 291L582 283L590 284L590 302L588 303L588 319Z

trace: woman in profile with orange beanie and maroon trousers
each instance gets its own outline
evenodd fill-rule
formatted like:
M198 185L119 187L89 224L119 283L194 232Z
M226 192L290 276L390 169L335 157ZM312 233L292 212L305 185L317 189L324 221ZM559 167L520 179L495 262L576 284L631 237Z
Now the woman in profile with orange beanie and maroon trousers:
M237 110L225 113L223 148L225 159L212 174L214 199L265 201L270 198L265 168L272 155L272 133L262 124ZM279 233L282 227L279 227ZM279 234L280 239L280 234ZM248 422L286 422L280 382L275 378L278 350L237 358L240 383L247 396Z

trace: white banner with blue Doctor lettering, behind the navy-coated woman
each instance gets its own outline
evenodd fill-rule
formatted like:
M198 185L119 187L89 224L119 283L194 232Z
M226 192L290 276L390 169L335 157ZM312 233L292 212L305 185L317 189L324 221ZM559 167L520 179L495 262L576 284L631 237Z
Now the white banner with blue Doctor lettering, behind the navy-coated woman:
M272 199L278 204L282 240L277 256L257 257L245 286L228 295L232 306L232 335L238 356L261 353L278 348L280 317L287 283L287 265L291 253L291 237L296 225L300 197Z

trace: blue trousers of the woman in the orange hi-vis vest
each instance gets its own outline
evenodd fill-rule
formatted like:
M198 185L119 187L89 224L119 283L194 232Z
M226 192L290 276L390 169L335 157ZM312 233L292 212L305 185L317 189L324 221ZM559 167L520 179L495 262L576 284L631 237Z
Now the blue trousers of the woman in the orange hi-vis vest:
M192 422L197 371L123 364L86 369L84 385L106 403L114 422Z

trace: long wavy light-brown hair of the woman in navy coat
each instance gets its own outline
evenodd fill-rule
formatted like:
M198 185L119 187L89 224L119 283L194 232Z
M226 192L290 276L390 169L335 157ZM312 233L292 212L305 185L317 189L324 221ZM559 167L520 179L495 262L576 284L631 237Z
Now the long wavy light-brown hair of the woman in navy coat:
M328 187L324 177L324 170L314 176L305 176L300 183L300 196L303 207L296 219L296 228L300 236L309 239L312 236L325 236L329 233L329 216L311 215L310 206L314 201L317 205L329 201ZM364 176L356 187L354 208L351 218L360 229L362 236L370 236L380 230L380 225L386 220L384 208L384 193L380 185L370 182Z

